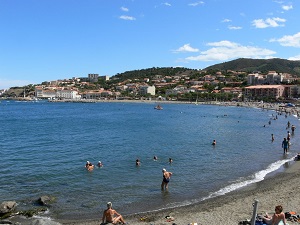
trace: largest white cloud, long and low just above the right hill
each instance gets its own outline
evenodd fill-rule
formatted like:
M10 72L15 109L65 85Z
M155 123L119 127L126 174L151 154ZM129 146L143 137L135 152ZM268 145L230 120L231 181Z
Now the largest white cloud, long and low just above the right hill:
M253 46L243 46L230 41L208 43L212 48L198 56L187 57L187 61L227 61L235 58L272 58L276 52Z

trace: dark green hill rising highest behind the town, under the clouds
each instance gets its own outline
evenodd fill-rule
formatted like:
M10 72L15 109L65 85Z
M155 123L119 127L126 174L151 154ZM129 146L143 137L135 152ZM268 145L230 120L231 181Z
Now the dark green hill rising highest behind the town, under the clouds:
M246 59L240 58L220 64L215 64L205 68L205 70L234 70L253 72L276 71L278 73L290 73L300 76L300 61L291 61L287 59Z

